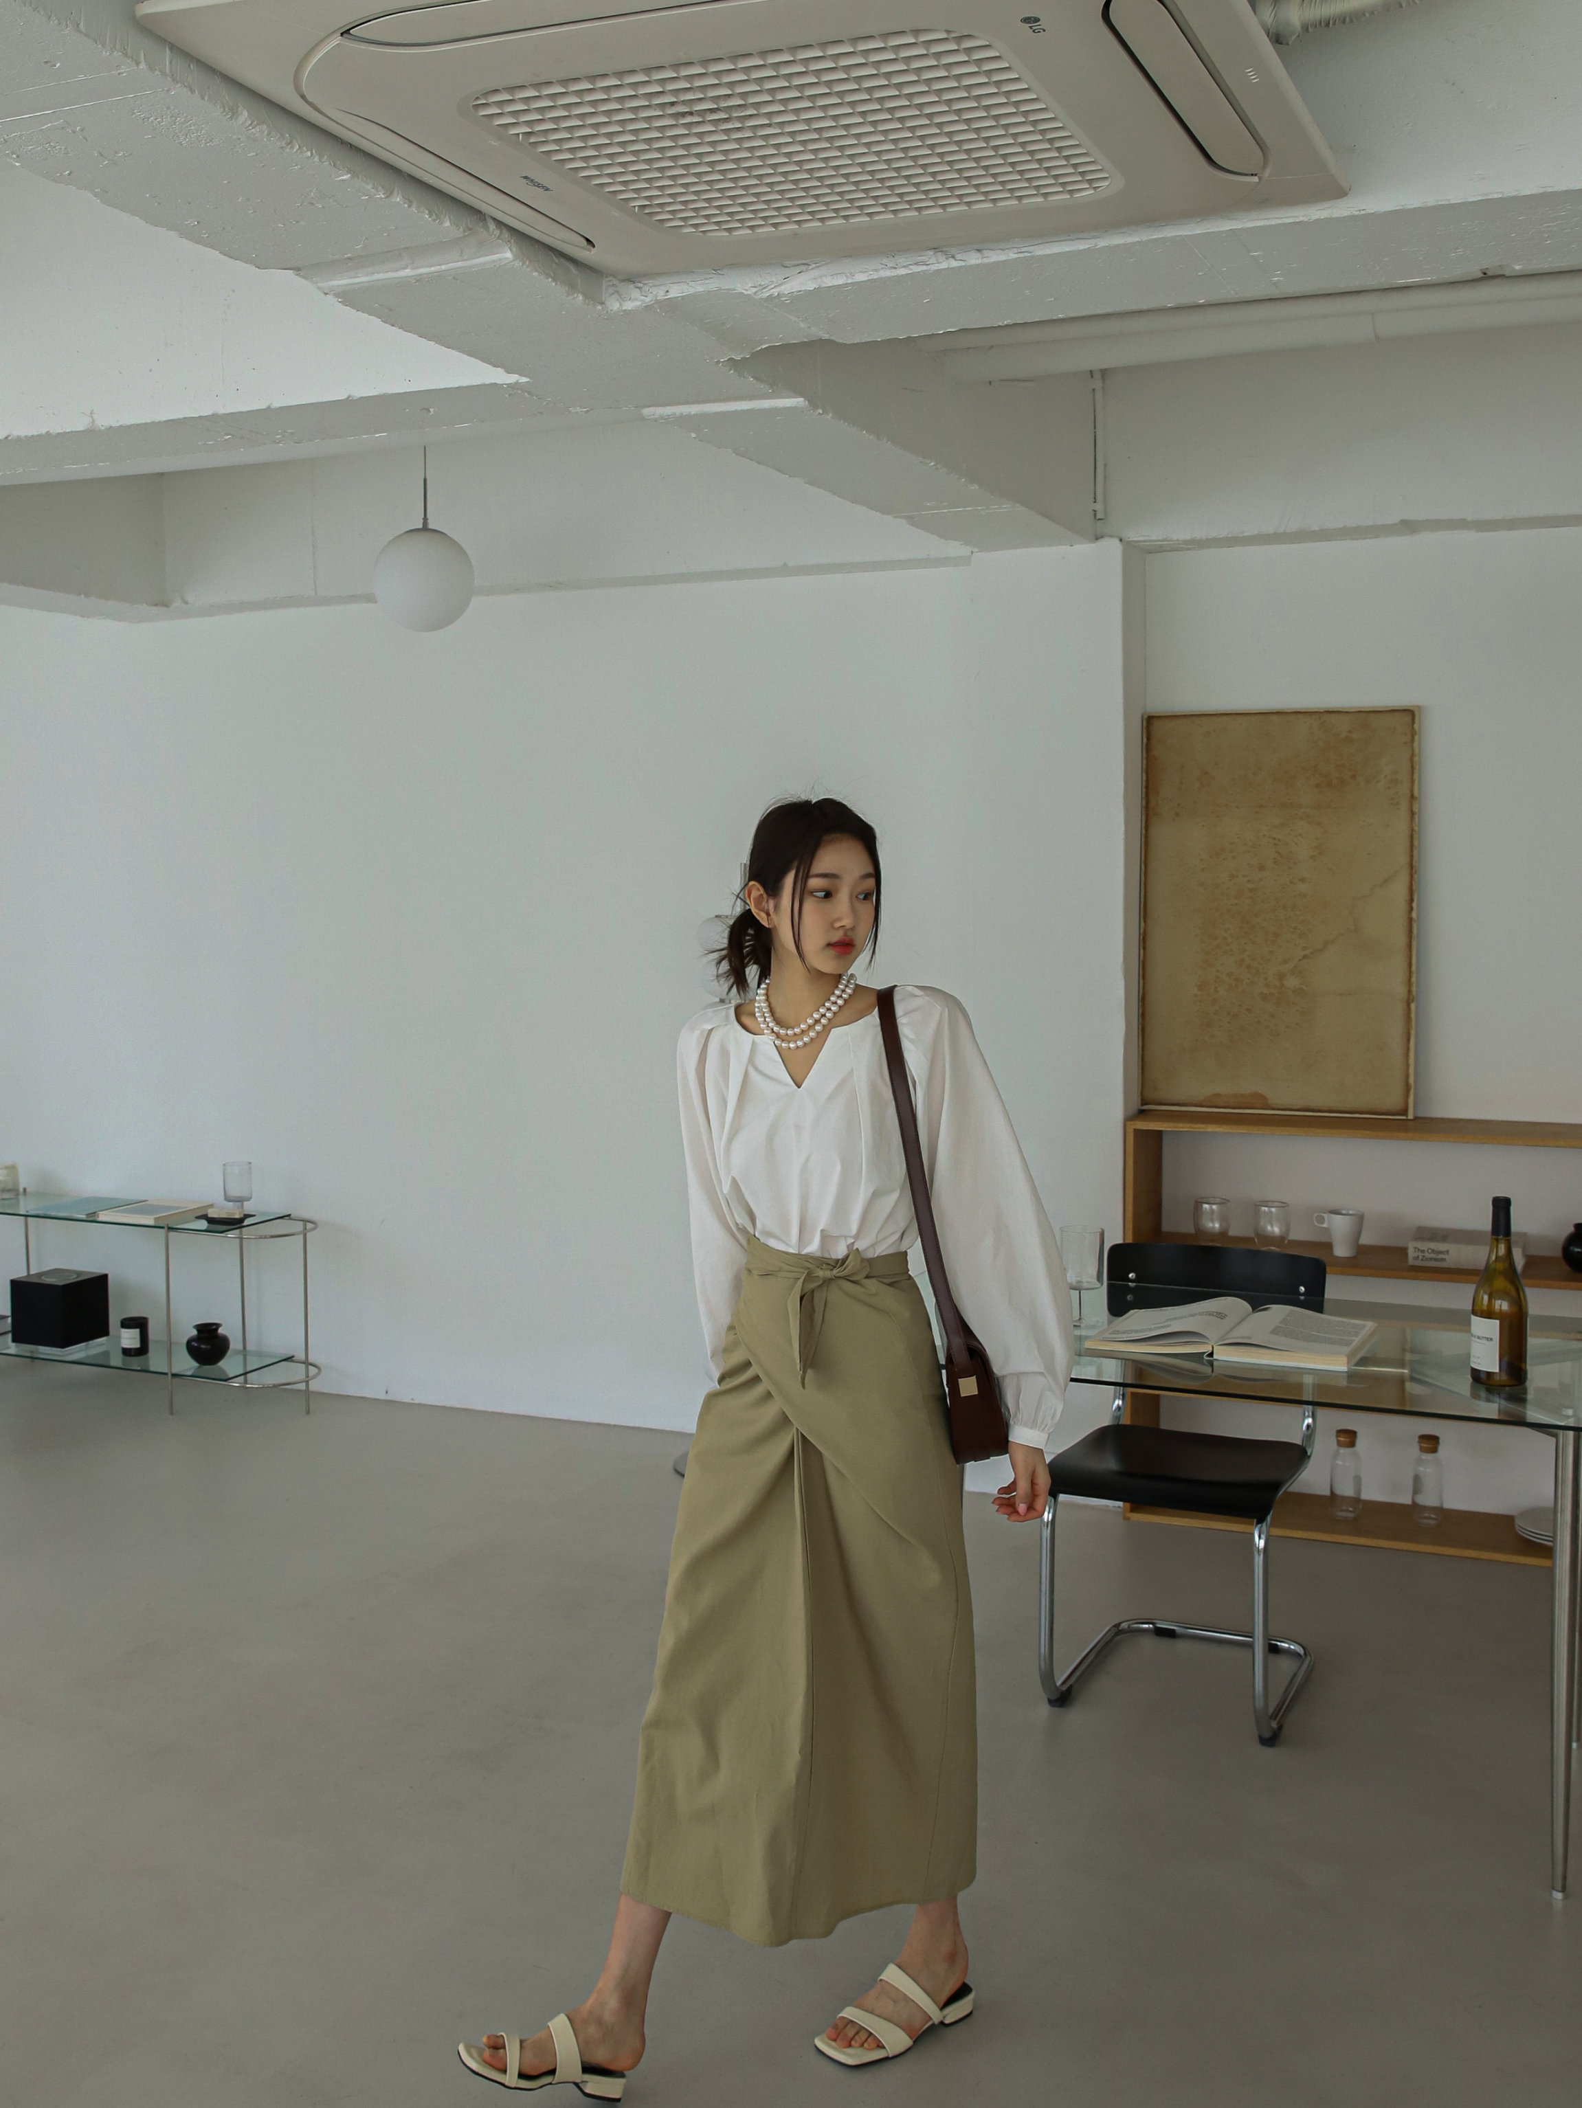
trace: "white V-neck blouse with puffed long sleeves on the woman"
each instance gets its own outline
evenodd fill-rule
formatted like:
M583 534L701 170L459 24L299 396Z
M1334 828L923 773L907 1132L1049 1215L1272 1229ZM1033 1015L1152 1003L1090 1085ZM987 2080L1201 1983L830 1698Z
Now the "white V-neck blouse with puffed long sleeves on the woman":
M1000 1379L1010 1440L1046 1448L1072 1374L1072 1301L1055 1231L972 1037L939 989L896 989L939 1244L956 1301ZM677 1048L692 1267L719 1374L747 1237L780 1252L869 1258L918 1242L880 1018L837 1024L797 1088L730 1003Z

